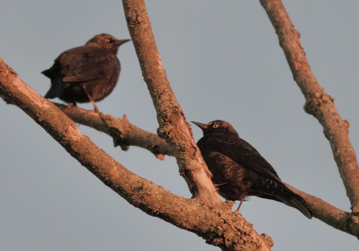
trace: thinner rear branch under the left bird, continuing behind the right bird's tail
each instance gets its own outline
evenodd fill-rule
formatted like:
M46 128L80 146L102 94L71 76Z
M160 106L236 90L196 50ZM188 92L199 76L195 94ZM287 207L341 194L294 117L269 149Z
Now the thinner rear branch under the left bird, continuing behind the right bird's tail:
M145 149L148 149L149 151L153 149L152 146L156 146L157 149L159 149L159 152L157 154L168 155L168 153L164 152L167 149L168 144L165 143L163 139L159 138L157 134L148 133L146 131L137 128L135 125L130 124L126 116L124 116L123 119L118 119L112 117L111 115L104 115L102 113L101 114L102 117L106 120L106 122L104 123L99 117L99 115L93 112L93 110L84 110L72 105L68 105L68 106L62 104L55 104L55 105L59 107L62 111L64 111L66 115L68 115L76 123L88 125L94 129L97 129L98 131L102 131L109 134L114 138L114 142L117 142L116 138L122 138L122 137L124 140L120 139L120 143L122 141L131 142L131 140L129 139L132 137L139 138L140 142L145 142L143 145L136 144L135 141L134 144L129 143L129 145L136 145L139 147L143 147ZM109 129L106 124L108 126L111 125L111 128L113 128L115 131L113 133L109 133L108 132ZM129 127L134 127L137 129L135 129L134 131L130 129L129 131L127 129ZM132 136L131 133L134 133L135 135ZM147 134L148 137L146 136ZM126 144L126 146L128 145ZM151 146L151 147L146 147L146 146ZM164 151L162 151L162 149L164 149ZM322 199L317 198L313 195L309 195L308 193L302 192L290 186L289 184L286 184L286 186L290 190L302 196L308 202L308 204L311 206L311 210L313 211L314 217L322 220L326 224L336 229L339 229L343 232L349 233L359 238L359 221L358 221L358 217L355 216L353 213L348 213L344 210L340 210L328 204L327 202L323 201Z

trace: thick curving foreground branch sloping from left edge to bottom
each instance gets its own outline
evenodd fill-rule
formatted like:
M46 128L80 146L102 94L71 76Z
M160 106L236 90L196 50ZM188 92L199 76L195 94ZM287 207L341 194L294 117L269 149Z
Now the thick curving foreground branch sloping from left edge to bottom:
M219 211L200 198L174 195L127 170L84 136L51 101L18 78L2 58L0 96L27 113L104 184L145 213L194 232L222 250L267 251L273 245L270 237L257 234L239 213Z

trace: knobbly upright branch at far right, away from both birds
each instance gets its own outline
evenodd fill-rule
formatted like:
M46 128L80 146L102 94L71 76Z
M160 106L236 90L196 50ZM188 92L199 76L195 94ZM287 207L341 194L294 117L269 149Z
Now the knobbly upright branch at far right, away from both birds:
M294 28L280 0L260 0L279 38L295 82L306 98L304 109L318 119L330 142L334 159L351 203L359 214L359 167L349 141L349 122L342 120L334 106L334 98L318 84L300 44L300 34Z

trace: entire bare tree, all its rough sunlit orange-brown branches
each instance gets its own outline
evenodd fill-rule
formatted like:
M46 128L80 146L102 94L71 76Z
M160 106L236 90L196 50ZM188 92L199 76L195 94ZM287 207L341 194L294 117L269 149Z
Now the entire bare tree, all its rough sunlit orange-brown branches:
M320 121L330 141L352 212L339 210L319 198L288 187L308 201L316 218L359 238L359 169L348 139L349 122L341 120L334 99L316 82L300 46L299 33L290 22L281 1L261 0L261 4L279 36L294 79L306 97L305 110ZM123 0L123 6L144 80L157 111L158 135L137 128L127 117L118 119L105 114L100 117L92 111L74 106L54 105L21 81L0 58L1 97L24 110L71 156L145 213L194 232L222 250L270 250L273 245L271 238L257 234L240 213L232 213L230 208L233 204L223 202L216 193L210 180L211 173L193 140L191 127L161 65L143 0ZM155 155L175 156L181 175L194 197L187 199L174 195L130 172L94 145L74 122L109 134L115 145L123 150L135 145Z

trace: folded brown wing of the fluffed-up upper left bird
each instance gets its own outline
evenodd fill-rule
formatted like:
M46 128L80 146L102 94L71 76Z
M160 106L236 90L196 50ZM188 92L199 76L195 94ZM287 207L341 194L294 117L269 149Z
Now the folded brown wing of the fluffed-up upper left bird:
M64 51L55 60L62 65L61 73L64 82L84 82L106 77L119 62L116 55L102 49L76 47Z

